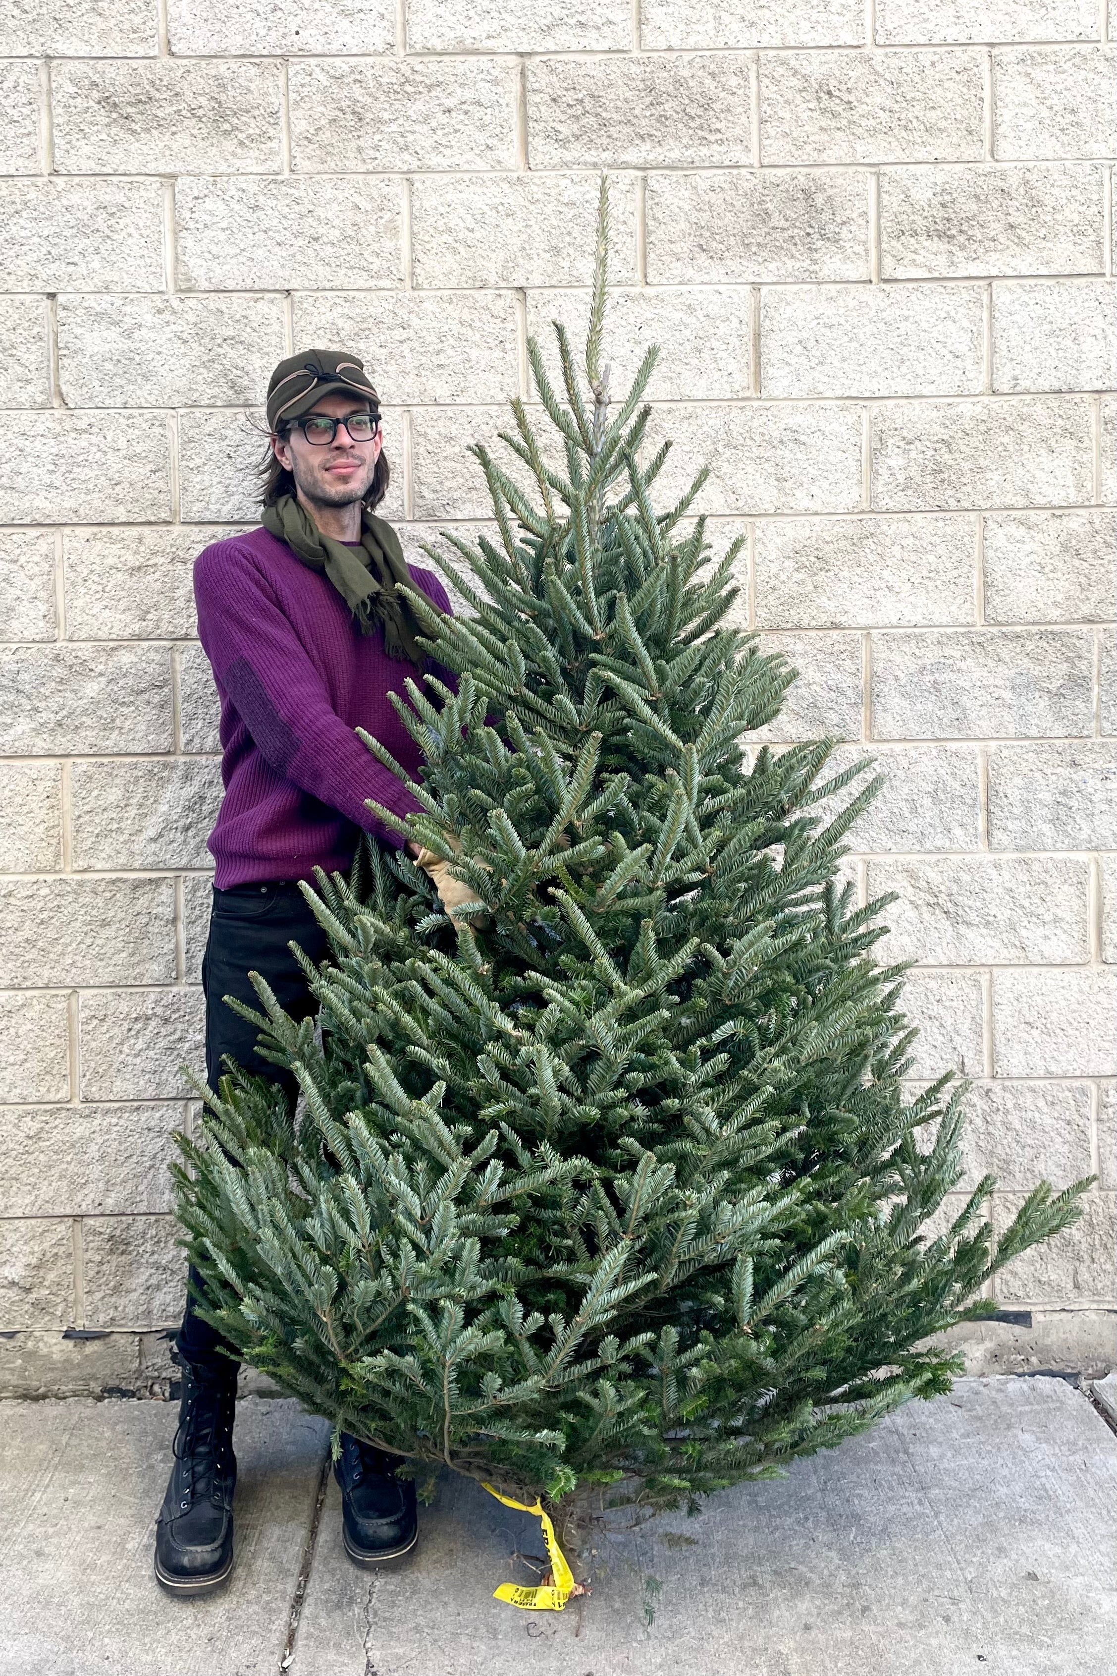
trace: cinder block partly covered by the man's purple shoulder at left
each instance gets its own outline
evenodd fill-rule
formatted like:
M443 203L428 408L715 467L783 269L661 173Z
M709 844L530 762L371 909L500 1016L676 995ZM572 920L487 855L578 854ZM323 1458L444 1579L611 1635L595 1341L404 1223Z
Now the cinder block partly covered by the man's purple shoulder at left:
M72 640L186 640L198 632L194 558L233 535L211 525L67 530L65 625Z

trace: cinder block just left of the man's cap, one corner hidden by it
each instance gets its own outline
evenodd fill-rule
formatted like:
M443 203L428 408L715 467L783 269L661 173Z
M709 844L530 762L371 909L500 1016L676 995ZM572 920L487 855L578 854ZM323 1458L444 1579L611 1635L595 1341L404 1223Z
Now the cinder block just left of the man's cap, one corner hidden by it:
M59 377L69 407L263 402L281 359L278 297L59 298Z

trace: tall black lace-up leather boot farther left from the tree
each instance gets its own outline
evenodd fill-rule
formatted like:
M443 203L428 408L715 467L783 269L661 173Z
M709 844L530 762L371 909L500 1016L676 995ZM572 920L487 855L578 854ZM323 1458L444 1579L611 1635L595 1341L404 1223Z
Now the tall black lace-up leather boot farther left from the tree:
M236 1369L179 1361L183 1403L174 1470L156 1527L156 1577L167 1594L208 1594L233 1570Z

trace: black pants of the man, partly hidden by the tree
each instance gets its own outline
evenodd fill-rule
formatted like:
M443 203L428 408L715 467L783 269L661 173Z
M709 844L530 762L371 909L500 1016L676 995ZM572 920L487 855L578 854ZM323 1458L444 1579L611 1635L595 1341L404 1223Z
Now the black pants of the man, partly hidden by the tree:
M318 1011L315 996L306 987L306 977L286 947L295 940L313 962L328 954L327 934L313 917L298 885L233 885L231 890L213 892L209 912L209 937L201 965L201 987L206 997L206 1079L216 1089L223 1073L221 1056L233 1054L238 1064L256 1076L278 1083L295 1106L298 1083L290 1071L280 1069L256 1053L256 1026L250 1024L223 996L236 996L258 1012L263 1011L248 972L260 972L275 991L285 1012L295 1019L311 1017ZM191 1285L201 1287L196 1269L189 1270ZM221 1334L198 1316L194 1299L188 1297L186 1314L178 1334L179 1353L201 1369L214 1374L233 1374L233 1364L224 1351L233 1351Z

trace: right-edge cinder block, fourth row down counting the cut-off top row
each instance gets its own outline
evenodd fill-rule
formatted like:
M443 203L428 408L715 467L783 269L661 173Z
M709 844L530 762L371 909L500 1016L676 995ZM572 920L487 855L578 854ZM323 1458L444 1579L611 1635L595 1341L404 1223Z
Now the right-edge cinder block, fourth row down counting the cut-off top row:
M1109 391L1117 384L1112 280L993 287L995 391Z

